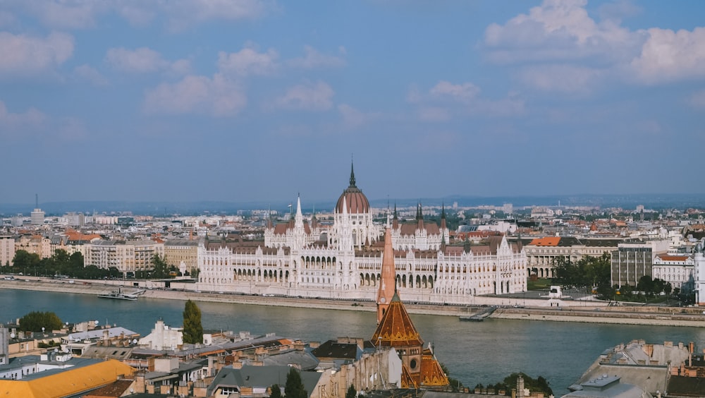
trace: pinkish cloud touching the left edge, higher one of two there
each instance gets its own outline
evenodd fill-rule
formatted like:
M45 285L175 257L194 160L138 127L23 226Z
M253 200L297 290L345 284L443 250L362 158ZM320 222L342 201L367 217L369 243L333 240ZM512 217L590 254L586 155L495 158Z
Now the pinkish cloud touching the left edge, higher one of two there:
M73 37L59 32L46 38L0 32L0 54L0 76L45 73L71 57Z

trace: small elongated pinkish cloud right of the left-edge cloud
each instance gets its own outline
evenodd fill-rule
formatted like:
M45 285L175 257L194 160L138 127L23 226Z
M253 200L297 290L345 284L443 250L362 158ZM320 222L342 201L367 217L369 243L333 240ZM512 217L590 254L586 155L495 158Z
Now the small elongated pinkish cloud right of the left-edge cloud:
M147 47L130 50L123 47L109 49L105 61L118 69L129 73L152 73L169 71L176 75L183 75L190 71L190 62L180 59L175 62L166 61L159 52Z

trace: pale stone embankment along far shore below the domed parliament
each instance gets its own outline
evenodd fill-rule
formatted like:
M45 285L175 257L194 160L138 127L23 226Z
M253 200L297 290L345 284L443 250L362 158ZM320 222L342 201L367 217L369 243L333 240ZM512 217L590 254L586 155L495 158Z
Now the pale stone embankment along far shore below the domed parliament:
M119 281L116 281L119 282ZM73 279L42 279L24 277L24 279L0 279L0 289L20 289L30 291L53 291L60 293L106 294L118 287L123 292L130 293L137 288L124 287L114 281L80 281ZM215 303L238 303L257 306L277 306L293 308L317 308L329 310L355 310L375 312L372 301L337 301L322 298L290 298L279 296L247 296L243 294L218 294L197 291L181 291L168 289L145 289L142 296L163 300L192 300ZM493 302L494 301L496 302ZM479 301L479 300L478 300ZM430 306L405 303L407 311L420 315L455 316L473 315L486 309L487 306L498 306L489 316L490 319L512 319L527 321L555 322L589 322L621 325L661 325L682 327L705 327L705 315L702 308L672 308L672 307L608 307L605 303L575 303L575 306L541 307L541 306L501 306L501 298L485 298L477 306ZM568 303L570 304L570 303Z

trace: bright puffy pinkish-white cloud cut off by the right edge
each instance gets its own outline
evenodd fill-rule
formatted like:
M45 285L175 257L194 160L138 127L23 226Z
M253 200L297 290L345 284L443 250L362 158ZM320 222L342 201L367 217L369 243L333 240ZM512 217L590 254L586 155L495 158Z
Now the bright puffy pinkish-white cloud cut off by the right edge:
M636 78L647 84L705 77L705 28L652 28L642 54L631 63Z

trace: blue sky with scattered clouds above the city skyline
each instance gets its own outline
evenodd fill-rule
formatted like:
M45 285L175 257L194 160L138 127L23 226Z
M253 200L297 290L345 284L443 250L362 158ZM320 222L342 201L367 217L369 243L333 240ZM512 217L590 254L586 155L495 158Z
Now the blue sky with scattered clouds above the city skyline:
M705 193L704 15L3 0L0 203Z

